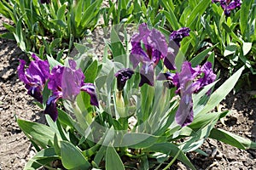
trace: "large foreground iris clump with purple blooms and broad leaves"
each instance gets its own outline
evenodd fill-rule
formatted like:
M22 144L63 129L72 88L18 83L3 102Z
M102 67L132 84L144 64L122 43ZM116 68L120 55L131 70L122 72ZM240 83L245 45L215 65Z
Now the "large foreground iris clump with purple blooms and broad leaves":
M49 75L44 90L40 88L43 102L38 103L46 113L48 125L17 120L38 150L25 169L53 168L50 162L55 160L67 169L167 169L176 159L195 169L185 153L196 151L207 156L199 149L207 138L243 150L256 149L252 141L214 127L229 111L212 110L230 93L243 67L212 92L216 76L210 62L196 65L201 64L201 57L197 57L195 66L191 66L172 55L167 50L166 37L146 24L133 35L130 53L128 36L120 30L120 26L113 27L105 48L105 52L111 51L113 59L104 53L102 62L98 62L86 50L84 53L82 45L77 45L83 53L74 57L76 62L69 59L69 66L49 59L49 72L45 67L39 73L22 70L24 64L19 67L20 79L28 90L42 84L35 87L32 82L37 79L26 81L24 77L41 75L43 80ZM177 47L168 42L169 47L182 50L177 39L172 40ZM170 55L178 57L176 62L165 60L171 59ZM33 65L48 63L34 58ZM208 59L211 60L213 55ZM136 165L132 160L137 161Z

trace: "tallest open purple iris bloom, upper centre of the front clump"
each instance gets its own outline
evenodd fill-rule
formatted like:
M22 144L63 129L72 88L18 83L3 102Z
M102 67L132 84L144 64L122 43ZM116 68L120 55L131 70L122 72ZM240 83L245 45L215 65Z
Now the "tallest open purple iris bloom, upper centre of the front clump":
M139 26L139 32L131 38L131 46L130 59L133 68L136 68L139 63L143 64L139 86L142 87L144 83L154 86L154 68L160 59L167 56L166 38L160 31L155 29L150 31L148 26L143 23Z

